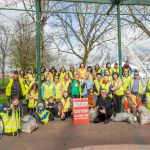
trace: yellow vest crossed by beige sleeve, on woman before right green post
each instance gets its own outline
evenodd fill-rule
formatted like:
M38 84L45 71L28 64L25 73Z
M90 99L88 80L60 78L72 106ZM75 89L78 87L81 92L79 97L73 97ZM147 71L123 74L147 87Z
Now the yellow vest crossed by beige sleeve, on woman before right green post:
M121 79L117 79L117 80L113 80L113 88L116 88L119 85L119 81ZM113 91L113 94L117 95L117 96L123 96L124 95L124 90L123 90L123 86L121 85L120 88L116 89Z

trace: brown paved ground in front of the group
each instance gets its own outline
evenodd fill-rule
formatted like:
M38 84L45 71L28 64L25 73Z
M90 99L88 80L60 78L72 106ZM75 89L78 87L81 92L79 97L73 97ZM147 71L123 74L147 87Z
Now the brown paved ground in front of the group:
M150 125L125 122L74 125L55 120L31 134L3 136L0 150L150 150Z

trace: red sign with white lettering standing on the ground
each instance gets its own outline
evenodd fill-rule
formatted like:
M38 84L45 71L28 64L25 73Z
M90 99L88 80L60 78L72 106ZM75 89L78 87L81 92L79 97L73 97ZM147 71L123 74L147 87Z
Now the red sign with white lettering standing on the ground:
M74 124L87 124L90 122L87 98L73 99L73 118Z

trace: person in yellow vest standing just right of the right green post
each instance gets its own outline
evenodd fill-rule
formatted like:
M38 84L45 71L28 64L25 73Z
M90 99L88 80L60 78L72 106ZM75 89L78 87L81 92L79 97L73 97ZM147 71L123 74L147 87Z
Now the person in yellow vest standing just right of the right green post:
M122 84L123 84L123 90L126 93L126 91L130 88L131 84L131 76L129 75L129 70L124 69L123 71L123 78L122 78Z

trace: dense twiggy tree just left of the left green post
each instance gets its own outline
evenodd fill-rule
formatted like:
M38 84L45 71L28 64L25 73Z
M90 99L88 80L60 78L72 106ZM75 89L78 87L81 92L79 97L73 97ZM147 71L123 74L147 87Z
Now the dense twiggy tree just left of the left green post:
M12 38L12 62L22 69L36 66L35 27L28 17L20 18L14 28Z

